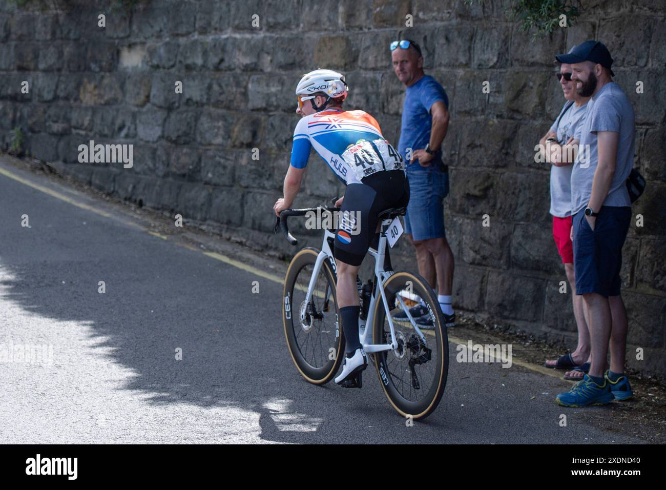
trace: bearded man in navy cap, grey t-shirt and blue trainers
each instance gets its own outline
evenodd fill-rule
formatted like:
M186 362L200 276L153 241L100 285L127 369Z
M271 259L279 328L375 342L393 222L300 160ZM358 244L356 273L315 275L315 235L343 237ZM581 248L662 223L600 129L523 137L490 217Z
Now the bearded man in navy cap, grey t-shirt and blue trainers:
M591 337L591 367L568 393L565 407L605 405L633 396L623 375L627 311L620 296L622 246L631 221L625 185L633 167L634 115L613 82L613 59L599 41L585 41L557 61L571 65L579 95L591 97L576 131L577 160L571 171L573 266L576 294L583 295ZM604 373L610 340L611 369Z

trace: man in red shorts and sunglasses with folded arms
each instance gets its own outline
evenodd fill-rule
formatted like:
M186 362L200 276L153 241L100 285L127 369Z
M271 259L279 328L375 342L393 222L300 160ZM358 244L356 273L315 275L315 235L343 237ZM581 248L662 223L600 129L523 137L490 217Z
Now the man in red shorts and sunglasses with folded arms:
M575 294L575 274L573 271L573 245L571 243L571 164L573 151L567 146L571 143L575 130L585 120L589 97L577 94L571 81L571 65L562 64L557 78L564 93L564 107L541 138L541 149L545 159L551 164L550 172L550 213L553 215L553 239L562 258L564 270L569 281L569 293L573 299L573 315L578 327L578 345L572 353L560 356L557 360L545 361L546 367L571 369L565 373L565 379L582 379L589 370L590 337L583 313L583 297Z

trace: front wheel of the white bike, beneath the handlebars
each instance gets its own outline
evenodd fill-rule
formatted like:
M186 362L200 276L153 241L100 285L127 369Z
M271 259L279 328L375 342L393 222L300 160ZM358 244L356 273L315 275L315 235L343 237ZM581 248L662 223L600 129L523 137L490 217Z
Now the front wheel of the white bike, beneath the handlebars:
M289 353L301 375L316 385L328 383L340 367L344 336L338 321L336 277L324 260L312 297L305 297L319 251L306 248L292 259L284 279L282 323Z

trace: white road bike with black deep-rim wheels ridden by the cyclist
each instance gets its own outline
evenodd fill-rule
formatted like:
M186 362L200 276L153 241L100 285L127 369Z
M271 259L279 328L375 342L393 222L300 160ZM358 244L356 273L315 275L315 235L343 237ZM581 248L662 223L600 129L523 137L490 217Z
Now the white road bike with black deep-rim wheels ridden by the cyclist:
M281 228L289 243L296 245L298 241L288 228L289 217L336 211L339 208L285 209L274 231ZM398 217L404 213L405 208L392 208L379 215L378 246L368 250L374 259L374 277L366 285L368 294L362 298L358 328L360 343L374 363L391 405L403 417L423 419L436 409L444 394L448 336L437 297L426 280L408 271L384 270L387 233L396 235L402 229ZM315 385L335 377L345 346L336 299L335 220L321 221L330 224L323 228L321 249L306 247L294 255L282 295L282 322L290 355L300 374ZM357 278L357 285L359 282ZM432 319L430 329L420 327L410 314L410 307L419 303ZM394 318L400 311L406 318ZM357 376L360 387L361 373Z

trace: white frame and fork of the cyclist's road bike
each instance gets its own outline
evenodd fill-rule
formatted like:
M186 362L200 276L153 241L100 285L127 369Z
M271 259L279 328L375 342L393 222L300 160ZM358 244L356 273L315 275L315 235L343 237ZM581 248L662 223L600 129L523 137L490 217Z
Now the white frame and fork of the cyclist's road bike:
M380 352L380 351L394 351L398 347L398 341L396 340L396 330L393 325L393 317L390 314L391 309L388 307L388 300L386 299L386 293L384 292L384 281L391 277L394 272L393 271L384 271L384 256L386 255L386 229L388 229L388 226L390 225L392 219L384 219L382 220L382 226L380 228L380 238L379 238L379 245L377 247L377 250L375 249L368 249L368 253L374 257L375 261L375 266L374 266L374 275L377 279L377 288L376 291L380 292L380 297L382 298L382 303L384 304L384 310L386 310L386 318L388 318L388 325L391 330L391 343L390 344L372 344L370 343L372 341L372 332L366 328L366 325L372 325L373 321L373 315L376 307L376 302L378 299L378 295L375 291L375 294L370 297L370 306L368 307L368 317L366 320L361 320L359 318L358 320L358 338L360 340L361 345L363 346L364 351L366 353L374 353L374 352ZM308 305L310 303L310 298L312 297L312 291L314 291L314 285L316 283L317 277L319 275L319 272L321 271L322 268L322 263L324 262L325 259L328 258L330 261L333 270L336 271L336 262L333 257L332 250L330 249L330 246L328 245L328 238L335 239L335 234L329 231L328 229L324 230L324 241L322 243L322 251L320 251L319 255L317 256L317 259L314 263L314 269L312 271L312 277L310 277L310 283L308 284L308 292L306 293L305 296L305 301L304 304ZM337 275L337 274L336 274ZM325 298L328 299L328 298ZM400 301L400 306L402 307L403 311L407 314L407 317L412 323L412 327L414 327L414 331L416 331L416 334L420 337L421 341L426 344L426 336L423 334L421 329L419 329L418 325L416 325L416 322L414 321L414 318L410 314L410 309L405 305L402 297L400 294L396 294L396 299ZM300 313L300 321L302 324L306 323L306 309L301 309ZM337 317L337 315L336 315ZM337 323L337 320L336 320ZM336 325L337 327L337 325ZM338 330L339 331L339 330Z

